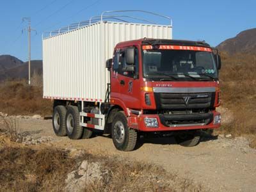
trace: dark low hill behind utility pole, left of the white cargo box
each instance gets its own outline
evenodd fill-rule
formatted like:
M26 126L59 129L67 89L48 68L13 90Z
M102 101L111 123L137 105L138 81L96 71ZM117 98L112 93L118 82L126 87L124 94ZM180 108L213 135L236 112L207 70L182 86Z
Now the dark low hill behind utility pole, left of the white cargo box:
M31 76L33 73L42 74L42 60L31 61ZM28 62L22 63L16 67L8 68L7 70L0 71L0 81L6 79L28 79Z

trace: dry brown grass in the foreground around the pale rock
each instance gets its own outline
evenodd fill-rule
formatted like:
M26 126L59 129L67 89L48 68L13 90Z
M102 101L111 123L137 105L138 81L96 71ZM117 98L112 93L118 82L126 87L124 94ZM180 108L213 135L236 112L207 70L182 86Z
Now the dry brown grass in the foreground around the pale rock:
M77 170L84 160L100 163L102 172L108 170L108 176L99 182L84 184L81 191L204 191L191 180L167 173L154 164L86 152L74 159L60 148L26 147L10 138L8 131L13 128L15 132L15 128L9 125L12 124L0 125L1 191L63 191L67 174Z

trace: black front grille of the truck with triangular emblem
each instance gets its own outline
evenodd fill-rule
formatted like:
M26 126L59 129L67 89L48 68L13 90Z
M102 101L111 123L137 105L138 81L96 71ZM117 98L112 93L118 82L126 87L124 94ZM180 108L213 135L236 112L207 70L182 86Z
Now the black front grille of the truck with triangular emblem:
M165 126L207 125L212 122L215 92L154 93L157 113Z

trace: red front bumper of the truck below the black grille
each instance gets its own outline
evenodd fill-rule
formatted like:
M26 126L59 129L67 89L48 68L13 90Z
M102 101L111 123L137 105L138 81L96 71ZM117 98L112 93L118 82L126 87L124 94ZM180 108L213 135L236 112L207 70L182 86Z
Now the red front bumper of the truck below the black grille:
M214 116L220 115L216 111L211 112L212 118L211 122L208 124L184 124L184 125L166 125L161 120L161 115L138 115L128 117L128 126L132 129L138 129L138 131L156 132L156 131L179 131L179 130L189 130L189 129L216 129L220 127L220 124L213 124ZM158 122L158 127L147 127L144 122L144 118L156 118Z

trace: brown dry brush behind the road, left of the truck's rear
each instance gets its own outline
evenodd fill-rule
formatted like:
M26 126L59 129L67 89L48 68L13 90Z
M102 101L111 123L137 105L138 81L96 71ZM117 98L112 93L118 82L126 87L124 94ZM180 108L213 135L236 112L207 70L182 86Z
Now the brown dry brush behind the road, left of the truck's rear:
M0 84L0 110L8 115L51 115L51 100L42 98L41 86L28 86L26 81Z

